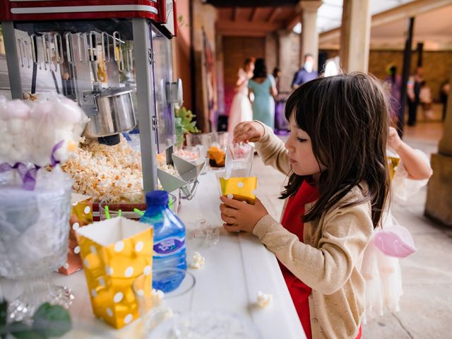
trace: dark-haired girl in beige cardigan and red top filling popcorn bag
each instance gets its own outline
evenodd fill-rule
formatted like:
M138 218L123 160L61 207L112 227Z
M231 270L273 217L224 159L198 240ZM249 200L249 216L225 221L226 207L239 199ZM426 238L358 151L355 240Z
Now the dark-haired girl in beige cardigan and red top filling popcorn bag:
M286 143L257 121L234 129L266 165L290 175L281 222L261 201L220 197L229 231L256 235L275 253L307 338L360 338L362 255L389 189L388 102L363 73L317 78L286 104Z

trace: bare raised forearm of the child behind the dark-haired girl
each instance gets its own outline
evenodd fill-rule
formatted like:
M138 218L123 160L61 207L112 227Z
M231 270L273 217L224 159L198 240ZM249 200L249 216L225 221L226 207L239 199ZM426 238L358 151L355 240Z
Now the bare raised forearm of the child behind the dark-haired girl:
M432 167L415 150L400 139L396 129L393 127L389 128L388 146L400 156L403 167L408 172L408 179L424 180L432 176Z

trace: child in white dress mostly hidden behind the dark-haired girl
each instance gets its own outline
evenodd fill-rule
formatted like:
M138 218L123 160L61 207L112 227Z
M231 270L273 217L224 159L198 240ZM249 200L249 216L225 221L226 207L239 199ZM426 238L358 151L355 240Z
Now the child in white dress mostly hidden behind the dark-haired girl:
M390 172L393 174L391 181L392 198L398 201L406 201L409 196L416 194L422 186L425 186L432 176L432 167L429 165L427 155L420 150L414 150L404 143L396 129L389 128L388 148L390 153ZM396 154L393 154L396 153ZM403 295L402 275L398 258L410 255L410 252L391 255L381 251L381 245L376 241L378 235L383 232L400 232L400 225L393 218L391 203L388 204L383 218L382 227L377 227L371 242L364 251L362 261L362 274L366 280L366 312L363 323L376 316L382 316L386 307L389 311L400 311L400 297ZM396 228L396 230L395 230ZM402 230L408 232L408 230ZM408 232L409 233L409 232ZM397 234L397 233L396 233ZM383 237L378 237L384 239ZM383 247L391 249L391 237ZM378 239L377 239L378 240ZM382 240L380 240L382 242ZM401 244L405 246L405 244ZM400 248L403 250L403 247ZM397 249L396 249L397 250ZM394 250L393 250L394 251Z

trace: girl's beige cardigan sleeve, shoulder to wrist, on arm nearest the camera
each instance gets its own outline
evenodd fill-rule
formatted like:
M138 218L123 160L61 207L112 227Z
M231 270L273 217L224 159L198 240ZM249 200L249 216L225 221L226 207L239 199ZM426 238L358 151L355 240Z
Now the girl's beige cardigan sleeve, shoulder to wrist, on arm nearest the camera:
M297 278L331 295L350 278L373 231L369 203L340 208L326 215L319 248L304 244L270 215L254 227L255 234ZM308 223L304 225L308 227ZM304 239L310 242L311 239Z

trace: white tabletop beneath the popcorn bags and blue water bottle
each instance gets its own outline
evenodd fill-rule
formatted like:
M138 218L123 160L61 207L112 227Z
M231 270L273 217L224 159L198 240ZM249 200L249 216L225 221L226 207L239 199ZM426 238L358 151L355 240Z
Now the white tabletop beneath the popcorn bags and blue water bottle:
M199 270L189 268L196 277L194 310L224 310L251 320L262 338L306 338L292 304L273 253L256 237L249 234L233 234L220 228L220 241L206 246L203 239L193 237L194 222L206 219L210 225L222 225L220 200L214 172L200 177L196 196L192 201L182 201L179 212L186 224L187 262L194 251L206 258ZM140 338L141 323L134 321L125 328L114 330L91 310L88 289L83 271L70 276L54 273L54 283L73 290L76 299L70 309L74 330L65 338ZM256 305L257 292L273 295L266 308ZM4 291L5 292L5 291Z

